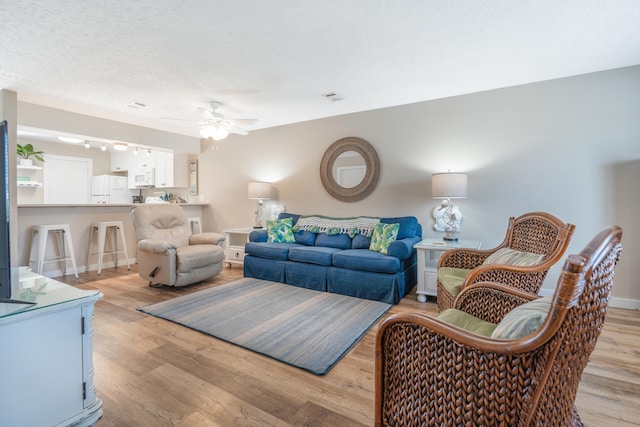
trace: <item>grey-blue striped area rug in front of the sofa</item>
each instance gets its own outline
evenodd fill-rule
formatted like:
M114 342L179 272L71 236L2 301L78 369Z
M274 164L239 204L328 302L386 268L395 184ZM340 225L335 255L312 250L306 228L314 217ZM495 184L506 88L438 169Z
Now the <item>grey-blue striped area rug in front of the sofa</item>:
M389 308L244 278L138 310L324 375Z

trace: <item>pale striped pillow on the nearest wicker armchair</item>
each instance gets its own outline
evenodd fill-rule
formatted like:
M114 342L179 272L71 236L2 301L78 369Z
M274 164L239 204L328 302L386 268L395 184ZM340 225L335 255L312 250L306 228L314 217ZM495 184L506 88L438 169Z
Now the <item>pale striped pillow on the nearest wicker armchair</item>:
M516 339L537 331L547 318L552 298L538 298L514 308L498 323L491 338Z

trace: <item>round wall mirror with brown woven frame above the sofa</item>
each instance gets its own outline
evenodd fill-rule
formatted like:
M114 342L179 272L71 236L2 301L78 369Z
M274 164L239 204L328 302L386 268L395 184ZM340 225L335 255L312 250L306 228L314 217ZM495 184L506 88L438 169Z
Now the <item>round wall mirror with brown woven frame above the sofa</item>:
M378 184L380 161L376 150L362 138L347 137L331 144L320 162L325 190L343 202L367 197Z

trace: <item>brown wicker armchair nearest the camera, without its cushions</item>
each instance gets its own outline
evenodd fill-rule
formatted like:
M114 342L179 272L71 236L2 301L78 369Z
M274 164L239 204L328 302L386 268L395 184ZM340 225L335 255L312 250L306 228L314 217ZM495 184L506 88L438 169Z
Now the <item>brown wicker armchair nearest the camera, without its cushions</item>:
M421 313L386 319L376 339L376 426L582 425L574 401L605 320L621 237L608 227L568 257L546 320L522 338L482 337ZM497 295L502 303L477 303ZM456 308L499 320L530 298L479 283Z

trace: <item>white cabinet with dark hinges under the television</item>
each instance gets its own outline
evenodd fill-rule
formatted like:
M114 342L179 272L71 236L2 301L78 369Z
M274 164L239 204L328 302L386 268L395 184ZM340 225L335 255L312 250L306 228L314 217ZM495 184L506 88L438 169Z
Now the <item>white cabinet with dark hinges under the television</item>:
M92 344L102 294L20 270L14 297L36 304L0 303L0 425L93 425L102 416Z

